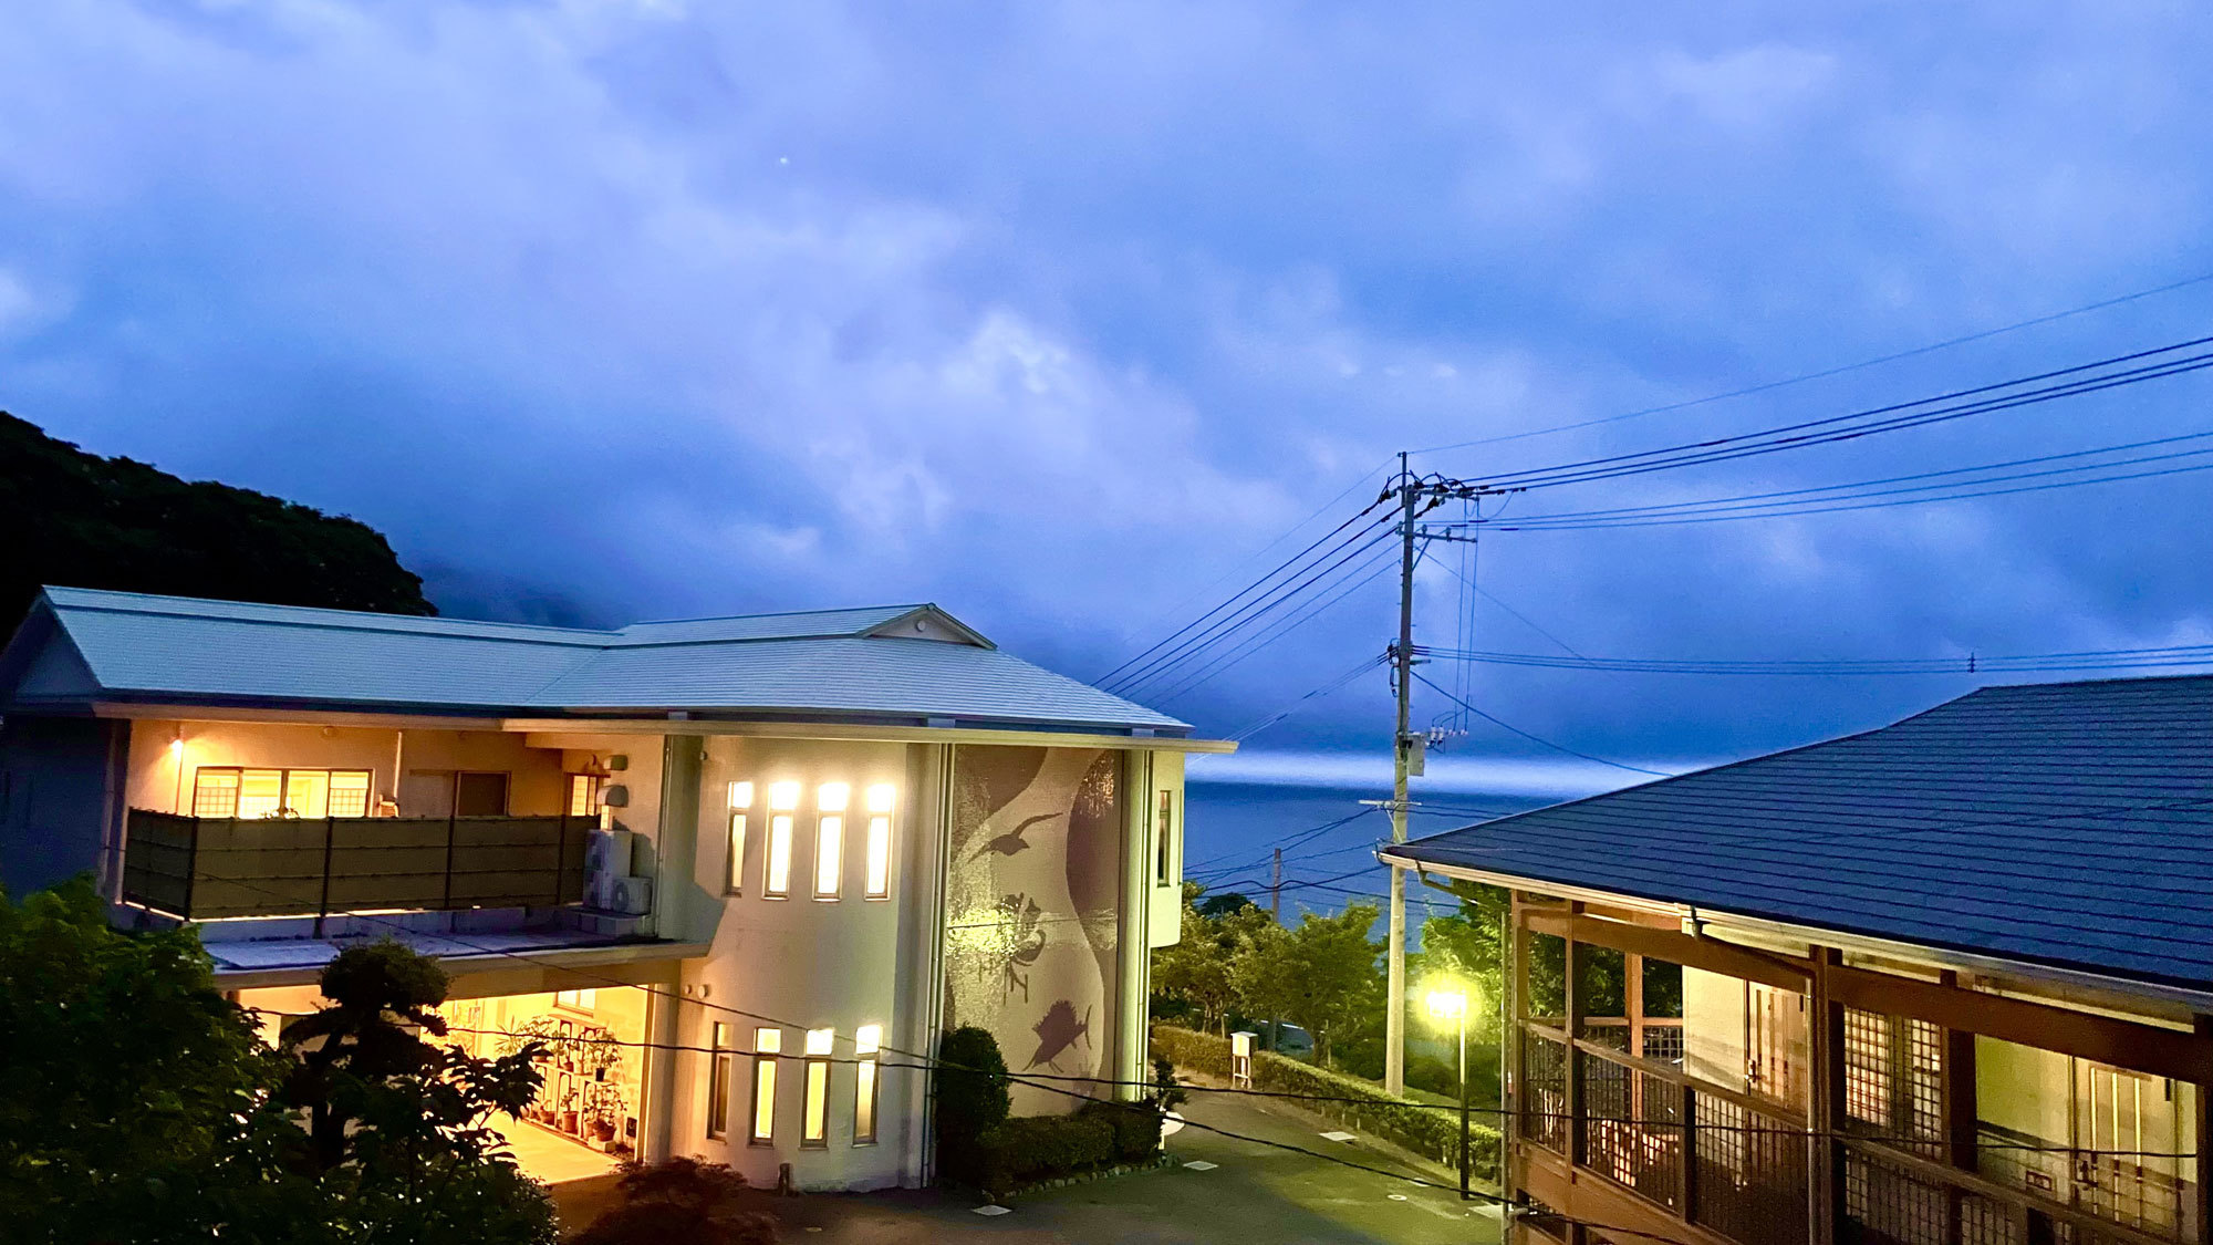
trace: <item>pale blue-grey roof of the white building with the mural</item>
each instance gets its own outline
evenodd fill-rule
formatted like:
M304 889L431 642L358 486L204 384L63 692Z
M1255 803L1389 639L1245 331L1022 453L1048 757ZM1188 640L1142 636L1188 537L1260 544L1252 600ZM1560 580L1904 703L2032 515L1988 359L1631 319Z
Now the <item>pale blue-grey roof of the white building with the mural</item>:
M693 711L949 718L1184 733L1142 704L998 651L932 605L518 627L49 587L97 696L451 713ZM914 618L927 636L901 638ZM901 627L887 631L892 622Z

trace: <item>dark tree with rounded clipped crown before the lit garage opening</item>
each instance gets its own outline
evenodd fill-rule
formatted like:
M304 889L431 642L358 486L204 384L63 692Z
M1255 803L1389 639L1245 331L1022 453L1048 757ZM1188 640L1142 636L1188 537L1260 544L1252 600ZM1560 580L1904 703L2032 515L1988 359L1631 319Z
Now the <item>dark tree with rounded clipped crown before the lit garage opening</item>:
M283 1030L299 1057L279 1099L308 1119L301 1167L343 1236L549 1245L553 1207L491 1128L538 1092L529 1046L478 1059L423 1041L447 977L396 942L352 946L323 968L330 1006Z

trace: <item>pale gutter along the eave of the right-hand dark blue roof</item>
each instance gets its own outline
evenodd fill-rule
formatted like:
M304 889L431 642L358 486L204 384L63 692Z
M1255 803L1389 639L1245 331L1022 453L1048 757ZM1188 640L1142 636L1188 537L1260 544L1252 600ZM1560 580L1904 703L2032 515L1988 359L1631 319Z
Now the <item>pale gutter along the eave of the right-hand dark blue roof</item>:
M1598 891L1591 886L1571 886L1565 882L1547 882L1542 877L1527 877L1518 873L1496 873L1489 868L1469 868L1465 864L1436 864L1425 860L1410 860L1403 855L1392 855L1388 851L1376 853L1383 864L1394 868L1412 868L1427 879L1430 873L1441 873L1445 877L1458 877L1463 882L1487 882L1492 886L1542 891L1545 895L1558 895L1562 899L1582 899L1589 904L1611 904L1615 908L1633 908L1640 913L1658 913L1675 917L1682 922L1684 933L1702 935L1704 926L1717 924L1728 928L1739 928L1744 933L1779 937L1790 942L1804 942L1815 946L1835 946L1837 950L1852 950L1859 955L1881 955L1885 959L1903 959L1910 964L1928 964L1932 968L1954 968L1976 975L1998 975L1998 977L2029 977L2036 981L2051 981L2056 986L2076 986L2087 990L2100 990L2107 995L2124 995L2133 999L2160 999L2164 1004L2180 1004L2191 1012L2213 1012L2213 992L2189 990L2182 986L2164 986L2158 981L2138 981L2131 977L2109 977L2102 973L2085 973L2080 968L2056 968L2049 964L2036 964L2027 959L2005 959L1998 955L1976 955L1972 950L1950 950L1941 946L1925 946L1916 942L1897 942L1872 935L1857 935L1846 930L1830 930L1821 926L1801 926L1793 922L1777 922L1770 917L1748 917L1742 913L1726 913L1720 908L1704 908L1697 904L1644 899L1638 895L1622 895L1618 891Z

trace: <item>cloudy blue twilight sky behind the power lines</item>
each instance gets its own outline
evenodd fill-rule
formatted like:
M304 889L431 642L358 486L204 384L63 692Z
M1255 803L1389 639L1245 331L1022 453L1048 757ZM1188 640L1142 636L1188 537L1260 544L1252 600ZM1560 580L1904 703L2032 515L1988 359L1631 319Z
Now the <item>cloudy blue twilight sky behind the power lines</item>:
M11 4L0 408L354 514L451 614L929 598L1089 678L1255 576L1317 510L1275 556L1357 510L1396 450L2213 272L2202 7L1523 9ZM2198 337L2209 312L2200 284L1419 465L1472 476L1815 419ZM2180 377L1514 505L2173 436L2213 428L2209 399L2213 374ZM1505 607L1478 605L1476 642L2204 642L2209 481L1494 534L1474 574ZM1354 503L1323 505L1348 487ZM1441 645L1450 558L1421 578L1421 636ZM1381 651L1392 609L1376 580L1166 709L1235 731ZM1472 685L1527 731L1640 764L1806 742L1967 687ZM1388 729L1374 673L1250 749L1381 755ZM1476 786L1556 782L1554 760L1480 724L1447 751Z

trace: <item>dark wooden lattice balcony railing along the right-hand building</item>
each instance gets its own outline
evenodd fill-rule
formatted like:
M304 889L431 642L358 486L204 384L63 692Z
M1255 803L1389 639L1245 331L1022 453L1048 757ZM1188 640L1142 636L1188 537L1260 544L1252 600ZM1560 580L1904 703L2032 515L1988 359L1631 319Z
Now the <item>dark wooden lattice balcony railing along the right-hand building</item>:
M1903 1145L1815 1139L1793 1108L1613 1050L1604 1037L1571 1041L1565 1030L1538 1021L1523 1026L1516 1110L1525 1148L1742 1245L1808 1241L1808 1165L1815 1161L1835 1163L1841 1179L1839 1241L2171 1245L2193 1238L2191 1232L2144 1232L2098 1214L2100 1207L2012 1190ZM1529 1223L1542 1232L1538 1221Z

